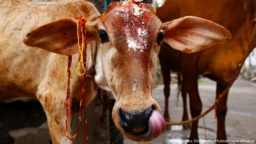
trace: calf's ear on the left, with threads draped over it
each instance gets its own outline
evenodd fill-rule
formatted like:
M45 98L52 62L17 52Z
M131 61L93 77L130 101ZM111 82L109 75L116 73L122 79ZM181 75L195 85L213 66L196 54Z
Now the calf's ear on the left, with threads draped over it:
M87 22L87 44L98 39L94 25L92 22ZM76 27L76 19L59 19L32 30L23 39L23 42L28 46L38 47L50 52L71 55L79 51Z

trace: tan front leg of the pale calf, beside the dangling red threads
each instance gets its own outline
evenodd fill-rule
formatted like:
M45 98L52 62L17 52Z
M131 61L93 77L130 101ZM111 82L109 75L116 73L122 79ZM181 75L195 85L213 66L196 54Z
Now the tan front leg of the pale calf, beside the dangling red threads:
M50 92L48 93L48 91L54 92L54 94L51 94ZM45 93L37 94L37 98L41 102L41 105L46 113L52 143L71 144L72 141L68 140L65 136L66 110L64 103L66 94L58 94L57 91L58 90L45 90ZM69 137L71 137L71 122L72 118L69 117Z

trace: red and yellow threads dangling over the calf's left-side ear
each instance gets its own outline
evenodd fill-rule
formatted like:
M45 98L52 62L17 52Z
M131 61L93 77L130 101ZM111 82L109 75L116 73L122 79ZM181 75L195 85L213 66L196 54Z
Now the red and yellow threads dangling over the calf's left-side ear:
M87 26L87 21L86 18L83 16L79 18L75 18L77 20L77 35L78 35L78 47L79 47L79 64L76 69L76 73L83 78L83 87L82 87L82 92L80 96L80 105L79 105L79 124L78 128L76 130L76 133L74 136L69 137L68 136L68 125L69 125L69 116L71 116L71 99L70 99L70 67L72 63L72 56L68 56L68 87L67 87L67 97L65 101L65 108L66 108L66 119L65 119L65 133L66 136L69 140L74 141L76 135L79 132L79 127L81 124L82 120L82 109L84 110L84 118L83 118L83 135L84 135L84 143L89 144L89 137L88 137L88 131L87 131L87 118L86 118L86 102L85 102L85 96L84 96L84 90L85 90L85 82L86 82L86 49L87 49L87 43L86 43L86 26ZM79 67L82 66L82 73L79 73ZM84 130L86 129L86 137Z

